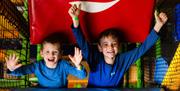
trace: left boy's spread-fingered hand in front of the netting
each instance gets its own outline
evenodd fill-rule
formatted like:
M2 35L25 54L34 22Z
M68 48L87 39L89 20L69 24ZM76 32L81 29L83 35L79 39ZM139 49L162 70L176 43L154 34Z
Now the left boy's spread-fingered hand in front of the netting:
M5 57L7 68L10 71L14 71L15 69L22 66L22 64L18 64L19 57L16 57L15 54L10 55L9 57Z

